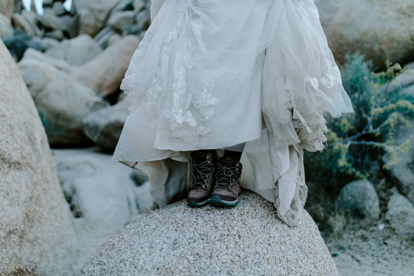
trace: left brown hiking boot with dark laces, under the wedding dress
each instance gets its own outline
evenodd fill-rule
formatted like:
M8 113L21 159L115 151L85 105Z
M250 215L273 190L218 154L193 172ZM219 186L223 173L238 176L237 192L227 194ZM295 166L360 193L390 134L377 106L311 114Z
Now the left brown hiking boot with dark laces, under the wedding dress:
M188 182L191 189L188 192L187 205L191 207L205 206L214 187L214 176L217 171L216 151L211 150L207 154L193 151L190 161L193 162L193 169Z

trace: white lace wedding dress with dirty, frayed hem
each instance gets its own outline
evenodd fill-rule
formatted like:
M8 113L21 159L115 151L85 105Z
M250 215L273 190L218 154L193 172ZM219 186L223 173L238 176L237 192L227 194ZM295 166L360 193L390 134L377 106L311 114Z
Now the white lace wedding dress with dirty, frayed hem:
M313 1L153 0L151 19L113 160L147 172L162 207L187 194L191 151L246 142L242 188L299 225L303 149L323 149L323 111L353 111Z

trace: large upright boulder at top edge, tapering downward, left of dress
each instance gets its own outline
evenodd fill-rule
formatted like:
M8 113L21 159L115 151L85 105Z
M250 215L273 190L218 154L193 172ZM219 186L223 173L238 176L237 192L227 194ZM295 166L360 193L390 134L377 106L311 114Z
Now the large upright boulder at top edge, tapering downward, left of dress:
M89 0L82 4L79 2L81 1L75 2L79 9L79 32L93 37L105 25L109 12L119 0Z

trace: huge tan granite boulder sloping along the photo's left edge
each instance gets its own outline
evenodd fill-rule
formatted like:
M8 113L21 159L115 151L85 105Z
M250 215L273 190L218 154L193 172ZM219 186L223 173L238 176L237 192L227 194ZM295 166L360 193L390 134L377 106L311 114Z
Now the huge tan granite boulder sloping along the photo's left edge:
M0 275L73 275L77 237L45 129L0 41Z

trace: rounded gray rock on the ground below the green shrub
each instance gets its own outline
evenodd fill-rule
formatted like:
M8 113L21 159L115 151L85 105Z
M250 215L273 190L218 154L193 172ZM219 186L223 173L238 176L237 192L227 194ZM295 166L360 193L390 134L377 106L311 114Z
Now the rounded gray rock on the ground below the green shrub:
M361 215L367 219L378 219L380 203L371 182L358 180L342 188L336 201L337 208Z

